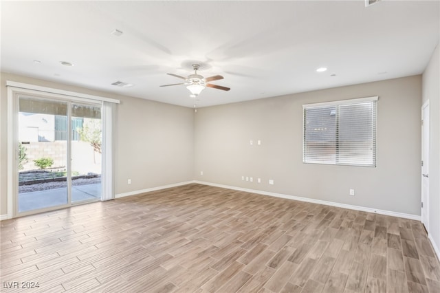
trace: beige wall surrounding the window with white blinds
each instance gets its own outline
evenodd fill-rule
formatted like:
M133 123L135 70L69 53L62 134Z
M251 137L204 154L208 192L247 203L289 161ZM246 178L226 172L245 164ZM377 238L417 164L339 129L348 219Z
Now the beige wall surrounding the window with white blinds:
M377 167L303 164L302 105L368 96L379 96ZM421 76L199 109L195 179L420 215L420 109Z

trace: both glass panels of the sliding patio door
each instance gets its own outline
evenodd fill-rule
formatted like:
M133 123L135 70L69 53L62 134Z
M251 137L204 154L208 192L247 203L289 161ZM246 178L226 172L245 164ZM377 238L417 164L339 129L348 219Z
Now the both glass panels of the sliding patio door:
M101 106L19 96L17 213L100 199Z

